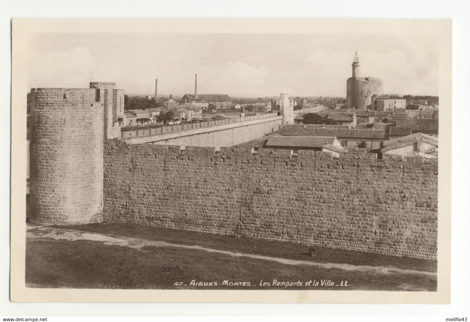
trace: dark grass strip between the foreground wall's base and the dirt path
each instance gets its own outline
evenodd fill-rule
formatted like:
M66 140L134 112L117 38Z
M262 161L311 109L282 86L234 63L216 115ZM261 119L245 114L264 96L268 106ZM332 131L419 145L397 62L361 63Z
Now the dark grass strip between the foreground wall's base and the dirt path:
M54 227L54 226L53 226ZM60 229L71 229L101 234L127 236L148 240L161 240L173 244L199 245L206 248L227 250L238 253L252 253L271 257L287 258L300 261L311 261L308 247L292 242L215 235L195 231L149 227L125 223L97 223L77 226L55 226ZM386 256L343 249L332 249L315 246L314 261L318 263L341 263L395 267L402 269L437 272L436 261Z

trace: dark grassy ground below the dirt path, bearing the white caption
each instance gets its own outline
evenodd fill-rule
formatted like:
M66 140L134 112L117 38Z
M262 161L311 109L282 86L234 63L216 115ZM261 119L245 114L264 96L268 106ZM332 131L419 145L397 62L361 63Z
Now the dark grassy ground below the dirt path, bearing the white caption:
M273 286L273 281L302 286ZM349 287L321 286L321 280ZM209 286L191 286L191 282ZM243 283L245 286L224 285ZM260 286L261 281L270 285ZM319 282L305 286L305 282ZM215 285L214 283L217 283ZM248 285L249 283L249 285ZM435 291L436 277L382 271L345 271L210 253L180 247L133 249L90 240L27 239L26 285L111 289L312 289ZM233 285L233 286L232 286Z

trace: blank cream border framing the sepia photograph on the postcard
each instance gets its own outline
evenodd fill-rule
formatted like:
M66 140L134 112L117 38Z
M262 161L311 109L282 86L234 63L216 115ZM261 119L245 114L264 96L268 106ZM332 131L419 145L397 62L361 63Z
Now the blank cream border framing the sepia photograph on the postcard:
M438 291L71 290L24 287L26 94L31 32L393 33L439 35L439 105L452 106L451 20L14 20L12 38L11 299L86 302L448 303L450 301L451 113L439 115ZM450 108L449 108L450 110Z

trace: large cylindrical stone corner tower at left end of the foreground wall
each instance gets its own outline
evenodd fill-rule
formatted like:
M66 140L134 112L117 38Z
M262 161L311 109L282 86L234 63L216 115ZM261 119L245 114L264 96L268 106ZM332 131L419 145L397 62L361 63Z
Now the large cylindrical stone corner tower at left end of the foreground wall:
M103 106L95 89L32 89L30 221L102 221Z

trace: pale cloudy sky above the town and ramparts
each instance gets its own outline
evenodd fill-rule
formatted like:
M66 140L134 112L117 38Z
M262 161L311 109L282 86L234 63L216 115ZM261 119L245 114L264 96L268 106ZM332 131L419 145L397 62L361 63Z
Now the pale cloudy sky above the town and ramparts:
M30 38L28 84L128 94L346 96L354 53L384 93L438 95L437 38L393 34L49 33Z

